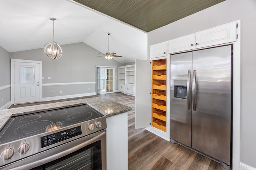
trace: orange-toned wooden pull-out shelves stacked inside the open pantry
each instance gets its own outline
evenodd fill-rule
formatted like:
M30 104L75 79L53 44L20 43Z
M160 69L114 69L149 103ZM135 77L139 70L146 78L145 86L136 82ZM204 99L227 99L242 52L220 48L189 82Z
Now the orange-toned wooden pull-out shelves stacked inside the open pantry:
M166 132L166 59L152 61L152 126Z

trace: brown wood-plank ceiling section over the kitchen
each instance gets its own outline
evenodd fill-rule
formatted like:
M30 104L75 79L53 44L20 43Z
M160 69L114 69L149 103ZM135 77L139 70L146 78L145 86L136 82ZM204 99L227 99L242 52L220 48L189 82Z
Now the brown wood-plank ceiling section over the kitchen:
M74 0L146 32L225 0Z

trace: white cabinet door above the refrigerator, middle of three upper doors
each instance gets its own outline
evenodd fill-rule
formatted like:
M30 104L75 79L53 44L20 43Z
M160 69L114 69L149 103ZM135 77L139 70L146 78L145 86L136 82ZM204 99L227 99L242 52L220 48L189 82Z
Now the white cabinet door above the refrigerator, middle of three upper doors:
M168 53L191 50L195 48L195 34L185 35L168 41Z

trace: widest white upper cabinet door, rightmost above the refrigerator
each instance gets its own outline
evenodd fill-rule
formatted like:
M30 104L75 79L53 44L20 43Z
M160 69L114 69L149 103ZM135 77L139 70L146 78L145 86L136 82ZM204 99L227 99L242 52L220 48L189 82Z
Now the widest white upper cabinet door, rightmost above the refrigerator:
M196 33L196 48L236 41L236 21Z

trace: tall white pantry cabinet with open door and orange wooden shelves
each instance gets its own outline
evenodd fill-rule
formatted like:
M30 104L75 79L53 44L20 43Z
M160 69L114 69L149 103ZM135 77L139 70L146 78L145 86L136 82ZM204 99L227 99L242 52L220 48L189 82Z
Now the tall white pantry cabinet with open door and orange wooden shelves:
M161 59L162 61L163 59ZM170 57L167 57L166 64L161 64L160 62L156 62L155 66L152 67L150 61L148 60L136 60L136 101L135 101L135 107L136 107L136 114L135 114L135 128L143 128L146 127L146 129L159 137L162 137L163 139L166 139L167 141L170 141L170 90L167 87L170 87ZM156 61L159 61L158 59ZM152 63L152 62L151 62ZM164 66L165 65L165 66ZM155 68L158 67L158 68ZM165 67L165 68L163 68ZM152 72L152 69L155 70L155 72ZM157 73L158 70L160 70L159 74ZM160 93L164 92L166 96L166 108L165 115L162 116L160 113L160 116L152 116L155 114L154 108L152 108L151 102L156 102L152 98L158 98L157 90L151 89L152 79L159 79L154 78L156 75L160 75L163 72L165 72L165 76L159 76L160 79L164 79L166 77L166 80L160 80L159 84L157 83L157 80L155 80L156 86L160 85L159 88L165 87L165 90L159 90ZM151 75L154 74L153 76ZM163 83L163 84L162 84ZM151 92L151 93L150 93ZM161 95L160 95L161 96ZM162 98L162 96L160 97ZM154 100L154 101L153 101ZM160 100L159 100L160 101ZM158 105L158 104L157 104ZM163 107L163 105L159 105L160 108ZM154 113L151 113L153 111ZM162 125L160 121L157 119L162 119L161 117L165 117L165 124ZM154 127L154 124L156 125ZM160 127L160 128L159 128ZM162 128L163 127L163 128ZM164 129L164 131L163 131Z

